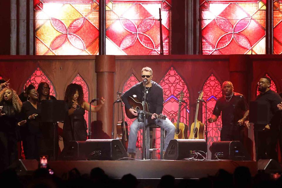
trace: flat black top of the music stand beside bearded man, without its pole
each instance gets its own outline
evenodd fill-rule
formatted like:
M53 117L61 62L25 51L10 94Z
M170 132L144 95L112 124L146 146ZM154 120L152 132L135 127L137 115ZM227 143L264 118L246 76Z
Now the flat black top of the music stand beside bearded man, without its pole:
M266 101L250 101L249 122L266 125L269 123L269 103Z

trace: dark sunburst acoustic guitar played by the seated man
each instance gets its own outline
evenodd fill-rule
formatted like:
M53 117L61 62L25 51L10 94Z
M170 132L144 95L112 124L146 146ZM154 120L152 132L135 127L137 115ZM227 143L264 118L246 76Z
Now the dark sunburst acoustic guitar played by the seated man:
M138 113L140 110L143 110L142 101L141 101L140 99L138 99L137 97L129 96L129 97L127 98L127 100L128 100L128 102L129 102L131 108L134 109L134 110L136 110L137 113ZM143 110L143 111L145 112L146 118L151 117L151 116L153 115L153 113L150 113L148 109L149 109L149 108L148 108L148 104L147 104L147 102L146 102L146 103L145 103L145 110ZM134 119L134 118L137 117L137 116L133 115L133 114L129 111L129 109L127 109L126 107L125 107L125 114L127 115L127 117L128 117L129 119ZM167 116L160 114L160 115L157 115L157 118L165 120L165 118L167 118Z

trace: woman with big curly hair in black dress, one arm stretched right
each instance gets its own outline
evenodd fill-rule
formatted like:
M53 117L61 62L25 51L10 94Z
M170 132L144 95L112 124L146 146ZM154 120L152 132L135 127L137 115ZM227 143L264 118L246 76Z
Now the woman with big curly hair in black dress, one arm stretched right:
M87 140L87 124L84 119L85 110L90 110L90 104L84 100L83 89L80 84L71 83L67 86L64 100L68 104L68 114L63 126L63 142ZM105 103L100 99L98 106L91 105L91 112L98 112Z

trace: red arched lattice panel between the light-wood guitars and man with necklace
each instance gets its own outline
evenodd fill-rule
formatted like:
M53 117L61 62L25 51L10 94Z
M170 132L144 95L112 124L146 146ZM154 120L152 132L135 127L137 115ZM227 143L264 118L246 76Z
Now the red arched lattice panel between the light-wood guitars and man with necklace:
M222 86L216 77L212 74L204 83L203 87L203 100L207 101L207 118L212 117L212 111L216 101L222 96ZM202 122L205 122L206 110L203 105L203 115ZM208 155L211 158L211 152L209 150L212 142L220 141L220 131L221 131L221 116L216 122L208 123Z

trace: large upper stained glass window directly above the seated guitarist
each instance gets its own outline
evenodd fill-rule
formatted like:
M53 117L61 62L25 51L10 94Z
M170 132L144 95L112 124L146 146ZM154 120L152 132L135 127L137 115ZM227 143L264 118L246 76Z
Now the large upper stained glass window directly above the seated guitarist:
M106 52L113 55L160 54L159 8L164 54L170 46L170 1L116 1L107 4Z

